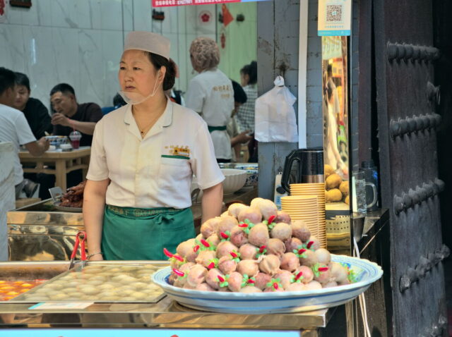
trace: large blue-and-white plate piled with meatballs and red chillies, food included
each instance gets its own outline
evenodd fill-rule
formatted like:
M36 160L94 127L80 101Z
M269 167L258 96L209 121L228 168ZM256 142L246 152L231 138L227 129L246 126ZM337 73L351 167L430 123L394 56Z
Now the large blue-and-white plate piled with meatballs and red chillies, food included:
M231 204L201 233L164 250L153 282L180 304L237 314L307 312L342 305L383 275L367 259L333 255L307 224L270 200Z

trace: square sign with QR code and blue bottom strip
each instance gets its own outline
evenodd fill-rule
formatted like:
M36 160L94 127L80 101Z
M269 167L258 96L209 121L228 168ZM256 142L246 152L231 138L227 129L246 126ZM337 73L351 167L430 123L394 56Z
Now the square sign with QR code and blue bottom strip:
M319 36L350 35L352 0L319 0Z

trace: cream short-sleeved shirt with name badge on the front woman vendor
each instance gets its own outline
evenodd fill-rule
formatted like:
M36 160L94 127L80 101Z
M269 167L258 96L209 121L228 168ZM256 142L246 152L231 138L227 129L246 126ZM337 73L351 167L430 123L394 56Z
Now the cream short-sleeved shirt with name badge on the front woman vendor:
M107 204L190 207L193 175L203 190L225 179L207 124L194 111L168 99L165 112L143 139L130 104L96 124L86 178L111 180Z

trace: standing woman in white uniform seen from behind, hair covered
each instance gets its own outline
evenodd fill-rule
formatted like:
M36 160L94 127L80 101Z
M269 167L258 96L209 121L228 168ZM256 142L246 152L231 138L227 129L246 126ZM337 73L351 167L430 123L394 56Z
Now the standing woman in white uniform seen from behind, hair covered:
M217 68L220 49L213 39L198 37L191 42L190 60L199 74L189 83L185 104L206 121L217 161L230 162L232 152L227 124L234 110L234 91L231 80Z

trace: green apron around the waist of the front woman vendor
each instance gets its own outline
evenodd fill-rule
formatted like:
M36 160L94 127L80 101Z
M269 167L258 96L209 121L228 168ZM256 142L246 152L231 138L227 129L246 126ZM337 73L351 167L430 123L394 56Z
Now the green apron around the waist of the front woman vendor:
M167 259L163 248L195 237L190 208L132 208L107 205L101 250L107 260Z

